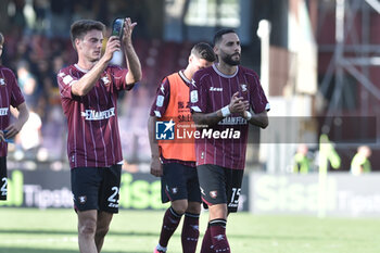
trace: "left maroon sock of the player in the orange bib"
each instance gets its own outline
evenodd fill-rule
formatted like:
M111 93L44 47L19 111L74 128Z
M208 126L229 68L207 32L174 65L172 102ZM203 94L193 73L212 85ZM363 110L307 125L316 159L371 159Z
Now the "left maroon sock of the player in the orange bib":
M180 222L181 215L177 214L172 206L166 210L164 215L164 220L161 228L160 235L160 245L166 248L167 243L173 236L174 231L176 231L178 224Z

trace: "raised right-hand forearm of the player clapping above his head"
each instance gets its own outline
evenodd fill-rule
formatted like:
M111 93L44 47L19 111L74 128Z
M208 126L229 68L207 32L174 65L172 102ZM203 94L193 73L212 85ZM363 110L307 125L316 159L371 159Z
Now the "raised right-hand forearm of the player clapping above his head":
M141 80L141 64L140 60L136 54L132 45L127 45L124 48L124 55L128 67L128 74L126 76L127 85L132 85Z

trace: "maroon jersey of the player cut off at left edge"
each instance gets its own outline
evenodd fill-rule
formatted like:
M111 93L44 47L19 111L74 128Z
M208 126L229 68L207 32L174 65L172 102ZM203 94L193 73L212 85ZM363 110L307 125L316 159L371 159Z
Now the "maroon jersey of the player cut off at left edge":
M0 66L0 129L4 130L10 124L10 105L17 107L25 99L17 85L13 72ZM0 141L0 156L7 156L8 143Z

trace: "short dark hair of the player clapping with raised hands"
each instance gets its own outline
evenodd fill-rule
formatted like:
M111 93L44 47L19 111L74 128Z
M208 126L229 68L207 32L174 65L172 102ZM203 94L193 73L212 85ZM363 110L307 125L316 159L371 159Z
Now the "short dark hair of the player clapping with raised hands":
M92 29L101 30L103 33L105 30L105 25L99 21L91 20L80 20L74 22L69 29L73 47L75 48L76 39L84 38L85 35Z

